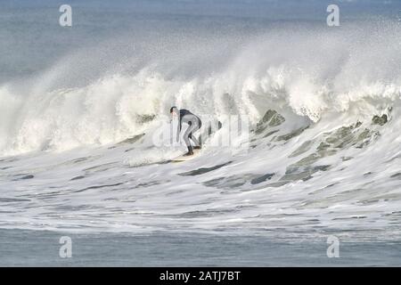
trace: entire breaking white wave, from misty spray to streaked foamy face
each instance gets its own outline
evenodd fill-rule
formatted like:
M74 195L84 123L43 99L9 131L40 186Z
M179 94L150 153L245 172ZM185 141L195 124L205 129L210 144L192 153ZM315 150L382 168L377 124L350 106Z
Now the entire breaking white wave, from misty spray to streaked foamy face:
M0 228L399 240L401 27L323 25L118 35L2 80ZM179 164L173 105L222 123ZM227 115L248 143L213 143Z

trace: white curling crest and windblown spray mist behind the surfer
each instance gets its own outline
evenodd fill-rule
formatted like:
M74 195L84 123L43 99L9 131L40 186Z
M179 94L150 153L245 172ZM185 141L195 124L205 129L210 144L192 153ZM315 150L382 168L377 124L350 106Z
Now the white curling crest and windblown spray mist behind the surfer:
M248 35L165 27L112 37L1 86L0 150L119 142L145 131L138 116L158 120L175 104L217 118L247 114L251 123L268 109L315 123L332 113L371 119L399 102L399 32L381 20L332 31L290 22Z

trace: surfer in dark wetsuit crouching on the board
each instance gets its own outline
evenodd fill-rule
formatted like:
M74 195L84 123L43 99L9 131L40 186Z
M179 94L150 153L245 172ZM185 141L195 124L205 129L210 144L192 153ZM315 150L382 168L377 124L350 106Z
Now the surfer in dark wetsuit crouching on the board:
M189 110L185 109L178 110L178 108L176 107L171 107L170 114L173 118L175 116L176 118L178 118L178 130L176 132L176 141L179 141L183 123L189 125L184 133L184 142L186 144L186 147L188 148L188 152L184 154L184 156L193 155L193 150L201 150L201 144L194 136L192 136L193 133L195 133L201 128L202 126L201 118L192 114L192 112L190 112ZM192 140L192 142L194 142L193 148L190 139Z

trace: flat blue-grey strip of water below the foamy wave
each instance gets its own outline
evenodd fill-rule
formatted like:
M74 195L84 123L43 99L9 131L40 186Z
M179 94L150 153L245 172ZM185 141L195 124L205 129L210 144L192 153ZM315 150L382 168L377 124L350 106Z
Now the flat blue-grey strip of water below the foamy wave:
M399 241L344 240L327 256L326 240L305 233L217 235L190 232L92 233L0 230L1 266L400 266ZM60 239L71 239L61 258Z

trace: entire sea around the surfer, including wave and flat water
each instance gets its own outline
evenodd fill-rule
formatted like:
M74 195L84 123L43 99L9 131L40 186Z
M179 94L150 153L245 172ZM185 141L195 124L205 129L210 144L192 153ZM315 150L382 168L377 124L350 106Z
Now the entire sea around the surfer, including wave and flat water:
M400 265L398 2L70 4L0 4L0 265Z

